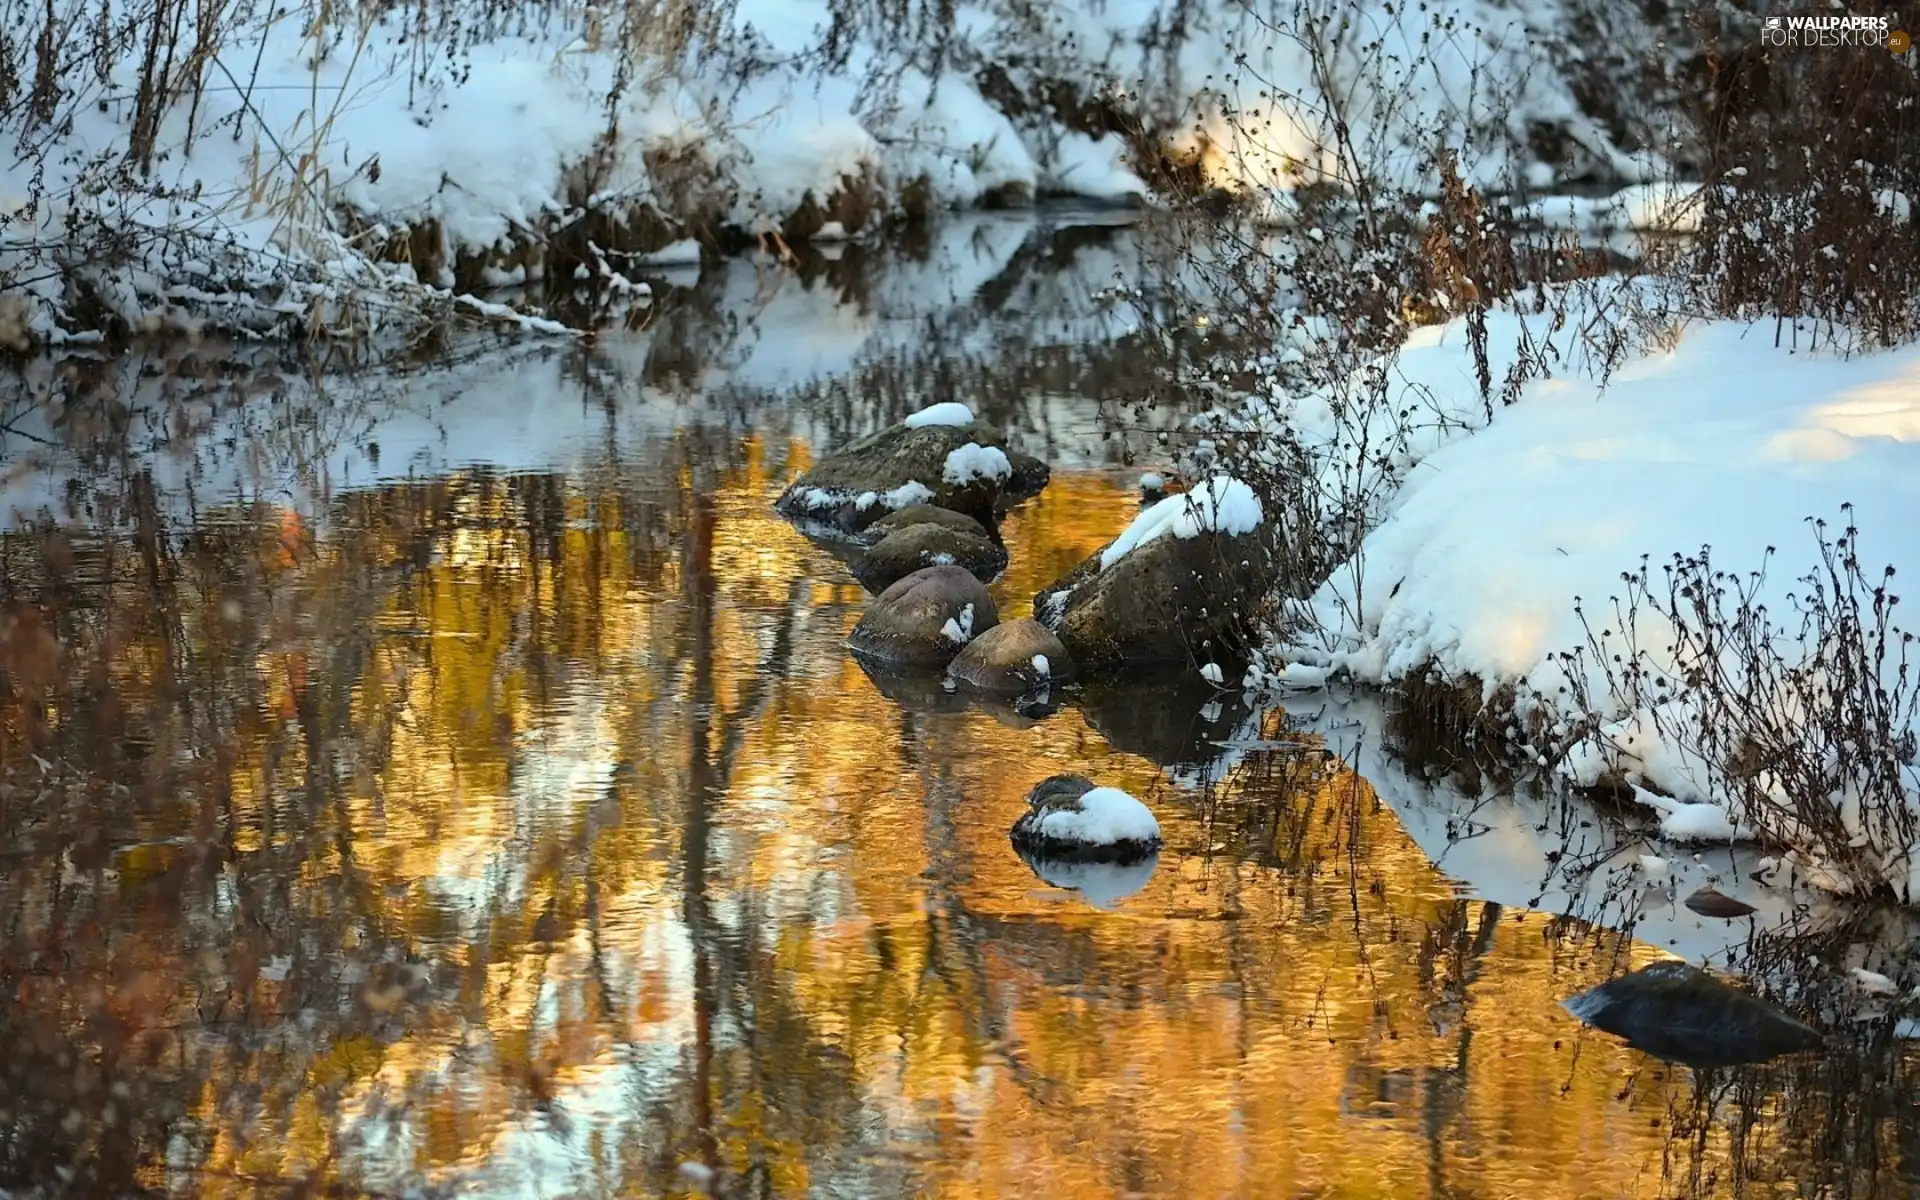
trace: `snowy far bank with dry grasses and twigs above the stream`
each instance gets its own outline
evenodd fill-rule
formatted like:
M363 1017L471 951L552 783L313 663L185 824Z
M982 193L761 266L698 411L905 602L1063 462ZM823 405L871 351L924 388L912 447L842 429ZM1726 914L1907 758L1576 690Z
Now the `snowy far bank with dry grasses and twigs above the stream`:
M555 332L455 298L547 278L634 303L632 269L689 244L789 257L1048 194L1271 204L1352 154L1411 186L1434 138L1486 182L1657 175L1588 50L1651 27L1584 12L6 0L0 328L367 336L461 311ZM1331 98L1356 115L1338 134Z

